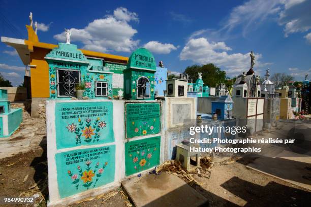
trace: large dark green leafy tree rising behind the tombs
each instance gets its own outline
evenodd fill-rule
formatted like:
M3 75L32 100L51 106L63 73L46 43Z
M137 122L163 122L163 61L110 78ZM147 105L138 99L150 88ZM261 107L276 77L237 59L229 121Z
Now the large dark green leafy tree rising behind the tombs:
M195 82L198 79L198 73L202 73L202 80L205 85L215 87L216 84L226 83L226 72L221 71L219 67L209 63L205 65L192 65L186 67L184 73L189 75L189 79ZM229 81L230 82L230 81Z

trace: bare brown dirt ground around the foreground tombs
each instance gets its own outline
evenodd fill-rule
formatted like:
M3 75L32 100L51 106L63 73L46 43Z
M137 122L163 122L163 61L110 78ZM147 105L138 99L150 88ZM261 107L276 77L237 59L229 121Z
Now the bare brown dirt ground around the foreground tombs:
M28 203L28 206L46 206L48 177L45 131L45 120L32 119L25 112L20 129L9 139L0 140L1 199L33 197L36 202ZM223 158L213 161L210 178L195 175L195 179L203 184L193 186L209 200L210 206L311 206L309 190L247 168L247 163L252 159L236 159L230 164L223 164ZM118 190L121 189L109 192L113 194L112 197L107 197L109 193L106 193L70 206L131 206ZM0 206L6 205L0 201Z

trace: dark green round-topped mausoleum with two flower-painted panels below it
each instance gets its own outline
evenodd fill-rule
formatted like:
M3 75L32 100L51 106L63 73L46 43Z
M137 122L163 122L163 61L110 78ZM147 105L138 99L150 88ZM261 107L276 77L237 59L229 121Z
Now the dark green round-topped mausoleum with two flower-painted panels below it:
M161 68L162 69L162 68ZM154 100L155 60L140 48L129 58L124 74L125 175L135 176L160 163L161 105ZM135 101L133 101L135 100Z

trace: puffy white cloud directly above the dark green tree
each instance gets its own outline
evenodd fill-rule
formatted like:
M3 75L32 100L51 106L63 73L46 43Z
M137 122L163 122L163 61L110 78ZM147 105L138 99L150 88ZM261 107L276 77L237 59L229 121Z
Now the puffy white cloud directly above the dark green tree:
M231 50L224 42L208 42L205 38L191 39L183 47L179 58L181 60L192 60L198 64L214 63L217 66L224 67L229 75L239 75L242 72L248 71L250 68L250 53L232 53L228 54L226 51ZM265 66L271 63L262 64L261 54L255 54L256 68Z

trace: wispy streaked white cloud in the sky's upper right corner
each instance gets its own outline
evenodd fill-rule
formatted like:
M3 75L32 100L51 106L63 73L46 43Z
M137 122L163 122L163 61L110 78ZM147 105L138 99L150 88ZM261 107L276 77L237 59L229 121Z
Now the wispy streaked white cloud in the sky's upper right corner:
M233 8L220 29L201 29L195 31L190 39L209 37L218 41L240 33L245 37L248 32L258 29L267 20L276 21L284 26L285 37L288 37L291 33L311 29L310 9L310 0L250 0Z

